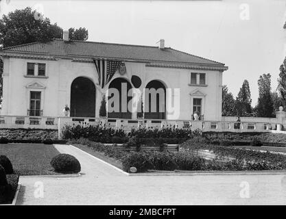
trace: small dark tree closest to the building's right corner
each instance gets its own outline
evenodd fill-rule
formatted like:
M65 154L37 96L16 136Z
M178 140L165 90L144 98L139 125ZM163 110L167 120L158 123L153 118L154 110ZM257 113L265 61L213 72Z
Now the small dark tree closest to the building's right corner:
M226 85L222 86L222 116L236 116L235 99Z

